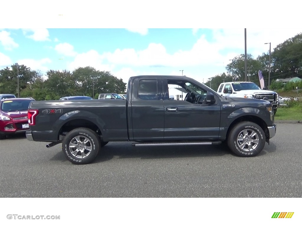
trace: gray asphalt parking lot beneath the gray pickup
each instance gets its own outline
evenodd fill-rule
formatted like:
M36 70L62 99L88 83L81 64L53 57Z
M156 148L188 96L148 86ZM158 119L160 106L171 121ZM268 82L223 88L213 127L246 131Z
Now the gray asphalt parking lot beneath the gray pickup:
M88 165L56 145L0 141L0 197L302 197L302 124L277 124L256 157L226 147L132 147L111 142Z

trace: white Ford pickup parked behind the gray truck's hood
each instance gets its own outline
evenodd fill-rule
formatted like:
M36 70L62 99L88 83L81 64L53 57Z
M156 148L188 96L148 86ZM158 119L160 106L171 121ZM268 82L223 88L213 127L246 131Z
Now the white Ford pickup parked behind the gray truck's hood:
M217 93L221 96L227 97L242 97L267 100L272 103L274 113L276 114L279 107L278 93L270 90L260 89L253 82L226 82L221 83L218 87Z

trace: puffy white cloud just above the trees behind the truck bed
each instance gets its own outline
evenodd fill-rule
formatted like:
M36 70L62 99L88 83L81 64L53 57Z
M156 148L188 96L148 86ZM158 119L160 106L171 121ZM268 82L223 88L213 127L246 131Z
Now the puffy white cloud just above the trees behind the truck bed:
M104 57L99 55L97 51L90 50L85 53L76 55L74 61L68 64L68 70L73 71L78 67L94 67L100 71L111 71L114 66L108 64L102 64Z

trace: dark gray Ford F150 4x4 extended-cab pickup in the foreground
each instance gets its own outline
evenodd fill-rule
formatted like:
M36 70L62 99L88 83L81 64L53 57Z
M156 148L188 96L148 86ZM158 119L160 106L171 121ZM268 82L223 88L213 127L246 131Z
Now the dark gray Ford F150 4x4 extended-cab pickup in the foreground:
M169 87L187 91L170 100ZM28 110L28 140L62 143L74 164L92 162L110 141L133 146L228 145L236 155L259 154L275 136L274 110L266 100L225 97L183 76L136 76L127 99L35 101Z

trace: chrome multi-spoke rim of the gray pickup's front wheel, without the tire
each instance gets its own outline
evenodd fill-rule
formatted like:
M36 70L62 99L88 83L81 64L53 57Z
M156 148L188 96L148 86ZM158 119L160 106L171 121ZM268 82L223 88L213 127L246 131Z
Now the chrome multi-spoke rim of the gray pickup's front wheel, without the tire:
M254 151L259 144L259 136L254 130L242 130L238 134L237 144L243 151Z

